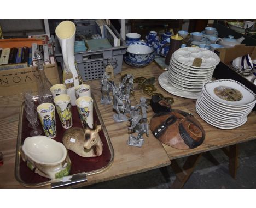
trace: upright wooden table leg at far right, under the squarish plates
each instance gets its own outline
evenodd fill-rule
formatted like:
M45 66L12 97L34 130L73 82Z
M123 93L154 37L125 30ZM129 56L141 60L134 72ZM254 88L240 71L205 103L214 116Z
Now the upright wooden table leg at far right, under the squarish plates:
M238 167L238 145L229 146L229 173L230 175L236 179Z

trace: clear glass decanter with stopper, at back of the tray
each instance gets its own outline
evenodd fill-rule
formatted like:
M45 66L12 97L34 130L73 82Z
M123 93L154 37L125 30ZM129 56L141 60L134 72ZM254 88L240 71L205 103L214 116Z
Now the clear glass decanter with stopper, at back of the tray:
M38 82L38 102L39 104L50 102L53 103L53 95L51 95L51 83L44 73L44 61L42 59L42 54L39 50L34 52L37 59L37 67L39 71L39 82Z

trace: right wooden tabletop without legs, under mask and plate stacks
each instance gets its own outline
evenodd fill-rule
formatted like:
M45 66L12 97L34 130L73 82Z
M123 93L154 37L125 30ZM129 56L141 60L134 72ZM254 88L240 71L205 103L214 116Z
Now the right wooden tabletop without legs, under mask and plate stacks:
M195 109L196 99L185 99L182 97L178 97L168 93L163 88L161 88L161 86L158 83L158 77L164 71L160 70L160 68L155 63L152 63L148 68L139 69L138 71L133 72L133 74L134 75L136 74L136 76L137 75L144 76L146 78L153 77L153 76L156 77L155 87L158 89L157 92L161 93L166 97L173 97L174 104L172 105L172 108L180 109L182 111L192 113L195 116L195 118L199 120L199 122L203 126L203 129L206 132L205 141L202 143L202 145L200 145L195 149L180 150L180 149L172 148L171 146L162 144L171 160L179 157L195 155L201 152L219 149L224 146L229 146L232 144L238 144L238 143L256 139L256 112L251 112L248 115L247 122L236 129L231 129L231 130L218 129L217 127L214 127L206 123L197 114ZM140 92L135 93L135 99L137 101L139 101L140 96L141 96ZM154 112L152 111L151 108L149 108L149 113L148 113L149 120L150 118L152 118L153 114Z

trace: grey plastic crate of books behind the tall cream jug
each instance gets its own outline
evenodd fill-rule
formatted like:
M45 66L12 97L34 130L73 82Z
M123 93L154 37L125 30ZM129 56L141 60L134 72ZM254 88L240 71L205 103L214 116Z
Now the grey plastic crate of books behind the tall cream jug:
M97 30L98 28L95 20L79 21L75 22L75 25L77 26L76 35L100 33ZM112 31L114 30L114 33L119 35L119 33L112 25L110 25L110 29L112 29ZM104 48L102 50L96 51L74 53L75 60L77 62L77 66L83 81L100 79L105 72L108 59L111 59L114 62L114 64L112 64L114 68L114 74L118 74L121 72L123 64L123 54L126 53L128 46L125 41L120 37L120 35L118 36L118 38L120 38L121 46ZM57 62L61 63L63 69L63 57L57 37L55 37L55 57Z

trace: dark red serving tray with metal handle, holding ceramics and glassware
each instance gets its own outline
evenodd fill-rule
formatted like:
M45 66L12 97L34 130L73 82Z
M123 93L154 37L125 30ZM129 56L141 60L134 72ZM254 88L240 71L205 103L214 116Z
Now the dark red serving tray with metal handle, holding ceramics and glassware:
M36 100L38 96L35 96ZM92 99L94 97L92 96ZM113 163L114 158L114 150L113 146L110 142L106 126L103 123L101 118L100 111L97 107L97 104L94 99L94 122L97 121L98 125L102 126L102 130L99 132L102 143L103 143L103 152L101 156L97 157L81 157L75 154L73 151L68 150L68 154L71 160L71 172L68 176L65 176L60 179L48 179L40 176L32 170L30 170L26 163L22 160L19 154L19 148L27 137L30 137L30 129L27 127L28 121L26 119L26 112L24 111L25 102L22 103L20 107L20 116L19 116L19 127L18 127L18 138L16 145L16 160L15 160L15 178L21 185L36 188L43 186L51 186L52 188L56 187L72 187L74 183L85 182L86 176L93 175L97 173L101 173ZM62 135L66 131L61 126L61 122L59 116L55 109L56 115L56 128L57 128L57 136L54 138L57 142L62 143ZM73 127L82 127L82 124L79 119L79 114L76 106L72 106L72 119L73 119ZM41 125L38 126L42 128Z

